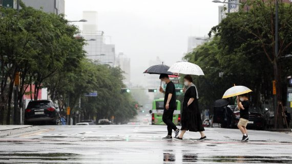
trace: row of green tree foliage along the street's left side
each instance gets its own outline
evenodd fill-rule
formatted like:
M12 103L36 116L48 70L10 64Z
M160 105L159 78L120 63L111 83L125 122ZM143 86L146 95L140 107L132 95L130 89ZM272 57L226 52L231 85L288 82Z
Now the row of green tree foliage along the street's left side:
M61 109L70 106L86 112L87 118L110 118L118 115L120 122L135 115L133 100L120 92L122 72L119 68L95 65L85 59L85 40L76 38L77 27L68 24L64 15L45 13L21 3L22 9L0 8L0 124L10 124L15 74L19 107L25 94L38 99L41 88L47 87L49 97ZM35 87L31 87L34 85ZM26 92L27 88L34 88ZM98 97L85 98L97 90ZM79 98L84 110L76 108ZM4 116L6 115L6 119Z

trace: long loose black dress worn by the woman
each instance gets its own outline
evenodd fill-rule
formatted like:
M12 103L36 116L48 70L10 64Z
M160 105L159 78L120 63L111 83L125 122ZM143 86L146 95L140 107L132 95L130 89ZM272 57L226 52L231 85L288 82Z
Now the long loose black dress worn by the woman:
M187 102L189 102L191 98L194 98L195 100L187 106ZM194 132L205 130L202 125L195 86L191 86L185 91L184 94L181 113L181 130L189 130Z

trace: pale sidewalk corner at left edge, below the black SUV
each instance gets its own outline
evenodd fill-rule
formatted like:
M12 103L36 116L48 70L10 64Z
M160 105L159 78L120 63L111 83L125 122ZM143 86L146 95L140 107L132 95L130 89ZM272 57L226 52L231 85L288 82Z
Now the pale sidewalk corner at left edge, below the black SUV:
M37 130L31 125L0 125L0 137Z

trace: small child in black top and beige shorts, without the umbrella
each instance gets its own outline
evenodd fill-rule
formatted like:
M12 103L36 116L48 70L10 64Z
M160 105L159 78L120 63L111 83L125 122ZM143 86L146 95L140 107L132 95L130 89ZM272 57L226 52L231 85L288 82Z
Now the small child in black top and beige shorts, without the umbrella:
M243 134L242 139L240 140L241 142L247 142L248 141L248 135L247 135L247 123L249 119L249 101L247 97L247 93L243 95L237 96L237 107L240 112L240 119L237 124L238 129L241 131Z

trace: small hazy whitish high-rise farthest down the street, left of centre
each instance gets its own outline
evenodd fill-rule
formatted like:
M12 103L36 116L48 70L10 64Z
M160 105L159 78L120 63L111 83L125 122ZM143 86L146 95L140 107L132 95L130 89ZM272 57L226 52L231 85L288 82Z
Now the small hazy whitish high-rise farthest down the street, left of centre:
M128 87L131 86L131 60L122 52L120 52L115 58L115 66L121 68L123 73L123 83L126 84Z

